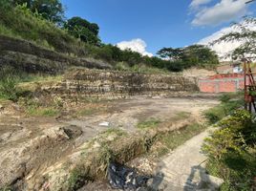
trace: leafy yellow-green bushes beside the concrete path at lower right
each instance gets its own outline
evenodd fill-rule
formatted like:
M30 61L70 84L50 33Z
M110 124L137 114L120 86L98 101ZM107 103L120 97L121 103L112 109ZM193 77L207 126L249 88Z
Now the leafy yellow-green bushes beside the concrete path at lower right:
M244 110L235 111L218 124L203 151L207 170L224 179L221 190L253 190L256 177L256 123Z

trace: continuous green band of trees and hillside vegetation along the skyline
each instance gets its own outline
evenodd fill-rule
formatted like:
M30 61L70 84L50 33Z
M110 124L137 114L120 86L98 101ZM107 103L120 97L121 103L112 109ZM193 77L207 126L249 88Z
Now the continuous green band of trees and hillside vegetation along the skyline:
M219 63L217 55L203 46L179 50L164 48L159 52L160 57L149 57L103 44L98 36L98 25L81 17L66 19L59 0L1 0L0 18L0 33L21 36L57 52L103 59L113 65L123 62L129 67L143 65L180 72L194 66L214 67ZM181 55L173 56L174 52Z

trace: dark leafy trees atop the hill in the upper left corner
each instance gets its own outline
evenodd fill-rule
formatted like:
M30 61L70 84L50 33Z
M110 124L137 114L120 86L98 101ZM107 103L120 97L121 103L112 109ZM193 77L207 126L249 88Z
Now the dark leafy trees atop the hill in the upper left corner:
M59 0L12 0L14 5L24 5L56 24L64 22L64 8Z

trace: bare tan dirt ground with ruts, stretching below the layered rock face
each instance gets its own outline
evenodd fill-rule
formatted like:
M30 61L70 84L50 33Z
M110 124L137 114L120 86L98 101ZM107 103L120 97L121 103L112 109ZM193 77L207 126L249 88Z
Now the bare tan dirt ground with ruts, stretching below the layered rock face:
M160 135L200 122L203 111L218 101L212 97L157 97L107 104L108 110L102 113L75 118L27 117L17 105L4 105L0 187L100 190L106 185L110 161L124 164L138 158ZM160 121L158 128L138 128L139 123L152 119Z

